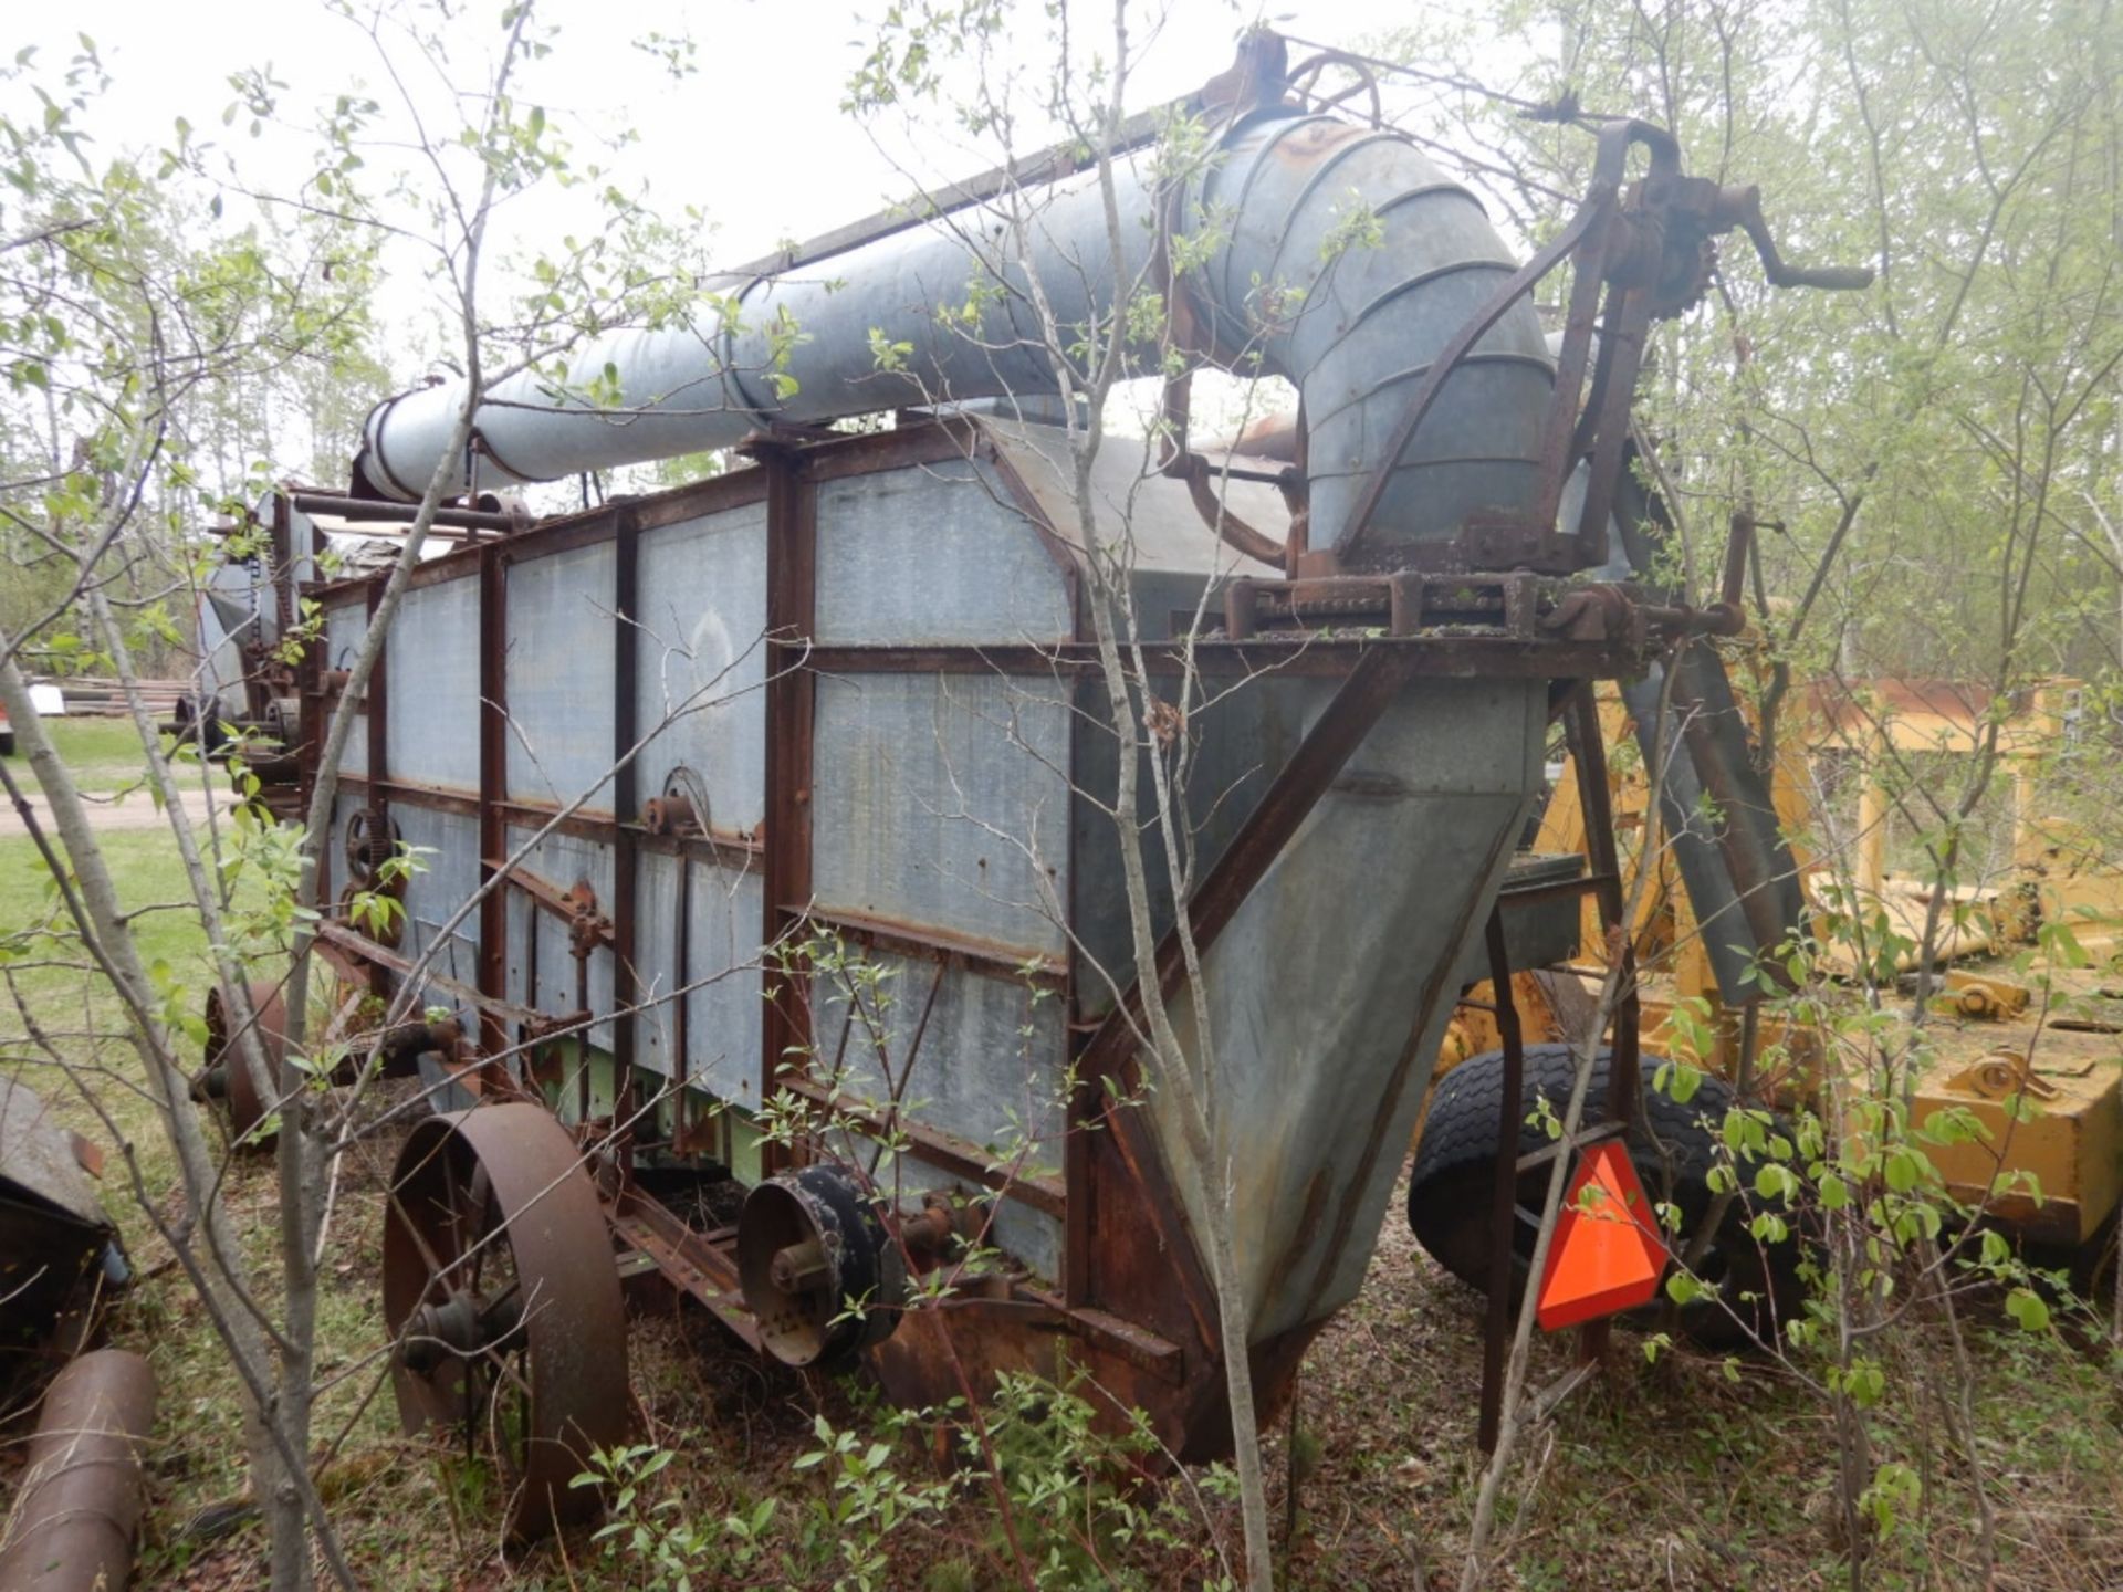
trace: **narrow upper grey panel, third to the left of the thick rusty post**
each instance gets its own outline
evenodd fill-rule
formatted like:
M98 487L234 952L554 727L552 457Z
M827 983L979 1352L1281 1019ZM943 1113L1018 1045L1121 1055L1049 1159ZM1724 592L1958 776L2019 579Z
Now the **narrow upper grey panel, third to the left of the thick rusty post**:
M480 584L416 586L391 624L384 707L391 777L480 788Z

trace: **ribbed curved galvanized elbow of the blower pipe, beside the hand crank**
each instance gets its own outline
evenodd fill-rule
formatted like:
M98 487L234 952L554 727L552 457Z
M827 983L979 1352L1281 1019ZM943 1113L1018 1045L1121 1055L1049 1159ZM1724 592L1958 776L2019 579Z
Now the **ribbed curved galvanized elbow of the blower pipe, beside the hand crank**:
M1518 263L1488 214L1408 138L1333 117L1267 113L1225 140L1193 225L1227 240L1189 295L1227 369L1253 352L1297 386L1306 418L1310 539L1348 552L1357 499L1431 359ZM1524 516L1539 497L1554 363L1520 299L1452 371L1365 531L1363 563Z

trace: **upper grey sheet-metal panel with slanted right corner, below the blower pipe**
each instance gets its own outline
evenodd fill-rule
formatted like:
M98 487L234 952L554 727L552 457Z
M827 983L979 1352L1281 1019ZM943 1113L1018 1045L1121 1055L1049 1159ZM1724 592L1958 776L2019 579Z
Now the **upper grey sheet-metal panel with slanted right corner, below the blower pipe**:
M1059 563L987 465L849 475L817 492L817 639L828 645L1074 635Z

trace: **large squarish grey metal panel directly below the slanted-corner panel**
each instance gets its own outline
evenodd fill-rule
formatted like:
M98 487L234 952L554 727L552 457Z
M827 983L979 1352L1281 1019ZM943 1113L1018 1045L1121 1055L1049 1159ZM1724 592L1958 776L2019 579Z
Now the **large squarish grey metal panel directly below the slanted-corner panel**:
M811 887L845 911L1059 955L1068 688L1051 677L822 677Z

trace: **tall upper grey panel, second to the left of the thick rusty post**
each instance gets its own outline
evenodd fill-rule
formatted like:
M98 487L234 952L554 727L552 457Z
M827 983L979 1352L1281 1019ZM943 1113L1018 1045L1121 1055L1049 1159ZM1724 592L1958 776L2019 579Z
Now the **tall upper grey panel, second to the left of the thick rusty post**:
M510 565L507 588L510 796L573 802L611 768L611 543ZM609 813L611 785L584 811Z

